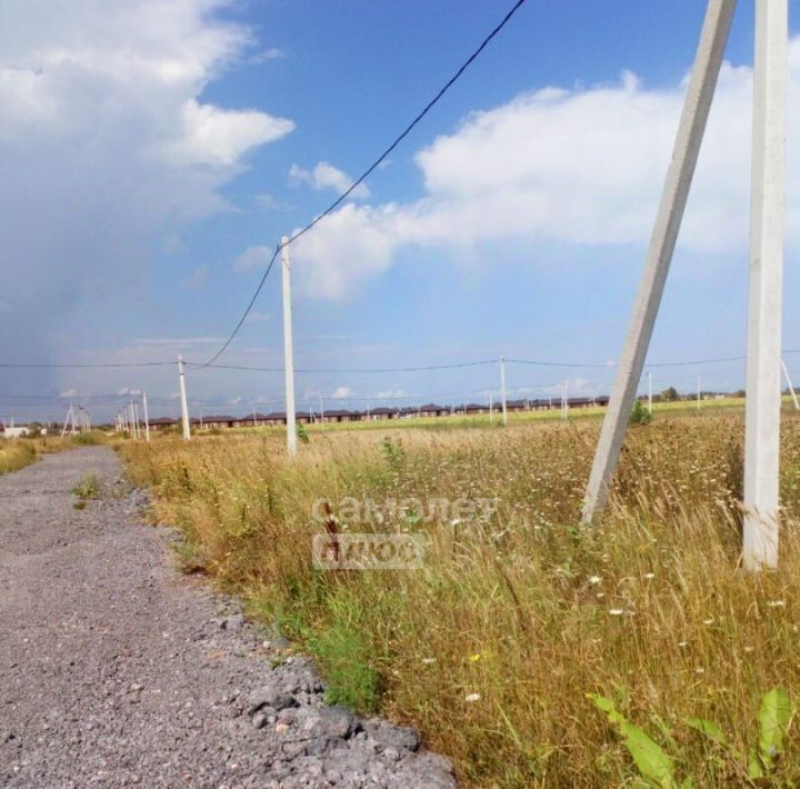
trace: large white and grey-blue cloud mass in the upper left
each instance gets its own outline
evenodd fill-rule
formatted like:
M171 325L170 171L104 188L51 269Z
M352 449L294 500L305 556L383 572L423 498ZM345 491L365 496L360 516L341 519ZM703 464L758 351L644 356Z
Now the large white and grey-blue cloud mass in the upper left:
M253 43L220 19L233 2L3 3L0 292L12 321L41 316L23 338L38 358L81 299L124 289L152 249L226 209L248 153L293 128L201 99ZM0 356L19 350L0 332Z

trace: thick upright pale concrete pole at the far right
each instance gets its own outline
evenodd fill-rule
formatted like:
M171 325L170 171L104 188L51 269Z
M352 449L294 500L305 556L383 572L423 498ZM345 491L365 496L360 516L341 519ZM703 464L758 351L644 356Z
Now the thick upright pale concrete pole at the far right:
M778 565L788 0L756 0L744 567Z

